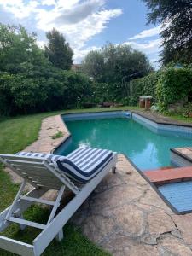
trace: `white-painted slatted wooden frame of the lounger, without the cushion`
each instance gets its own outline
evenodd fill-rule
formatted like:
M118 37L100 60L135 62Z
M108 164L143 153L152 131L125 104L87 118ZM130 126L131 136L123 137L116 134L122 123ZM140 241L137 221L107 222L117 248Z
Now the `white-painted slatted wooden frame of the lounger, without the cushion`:
M110 169L115 170L117 154L113 154L113 159L108 162L108 165L96 177L93 177L84 185L81 184L81 186L75 185L63 172L45 158L0 154L0 161L24 179L12 205L0 213L0 232L5 230L11 223L20 224L21 230L26 225L43 230L32 241L32 245L0 236L0 248L23 256L38 256L44 252L44 249L55 237L58 241L61 241L63 238L62 227L67 223L68 219L72 217L73 213L96 188L97 184L102 181L108 171ZM26 195L22 195L26 183L32 184L34 189ZM57 208L60 206L65 187L73 191L75 196L61 212L55 215ZM41 199L41 196L49 189L58 190L55 201ZM47 224L38 224L23 219L22 212L36 202L53 207Z

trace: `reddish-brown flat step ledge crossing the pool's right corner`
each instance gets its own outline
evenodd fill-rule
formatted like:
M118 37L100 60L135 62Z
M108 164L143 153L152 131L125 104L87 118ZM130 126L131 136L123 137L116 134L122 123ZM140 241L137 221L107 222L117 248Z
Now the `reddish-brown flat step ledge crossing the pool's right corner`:
M155 185L179 183L192 180L192 166L145 171L144 174Z

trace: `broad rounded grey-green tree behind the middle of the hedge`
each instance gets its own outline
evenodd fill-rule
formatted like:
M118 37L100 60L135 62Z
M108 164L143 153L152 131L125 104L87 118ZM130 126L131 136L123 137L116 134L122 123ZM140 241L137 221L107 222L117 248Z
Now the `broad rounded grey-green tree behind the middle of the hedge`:
M147 56L127 44L107 44L101 50L90 51L82 64L84 73L102 83L123 83L153 70Z

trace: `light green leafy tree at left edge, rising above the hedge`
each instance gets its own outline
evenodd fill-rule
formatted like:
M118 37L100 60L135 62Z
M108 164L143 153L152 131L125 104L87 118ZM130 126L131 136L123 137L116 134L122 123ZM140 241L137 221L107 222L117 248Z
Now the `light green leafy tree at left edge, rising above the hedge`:
M44 65L46 62L35 33L29 34L23 26L0 23L0 71L16 73L24 63Z

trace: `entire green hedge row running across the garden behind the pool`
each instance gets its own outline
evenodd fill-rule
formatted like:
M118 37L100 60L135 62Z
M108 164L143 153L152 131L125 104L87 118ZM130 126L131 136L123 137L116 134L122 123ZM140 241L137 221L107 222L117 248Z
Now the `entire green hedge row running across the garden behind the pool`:
M26 63L20 73L0 73L0 115L81 108L102 102L137 105L153 96L164 111L179 100L192 102L192 70L169 67L130 83L94 83L83 73Z

